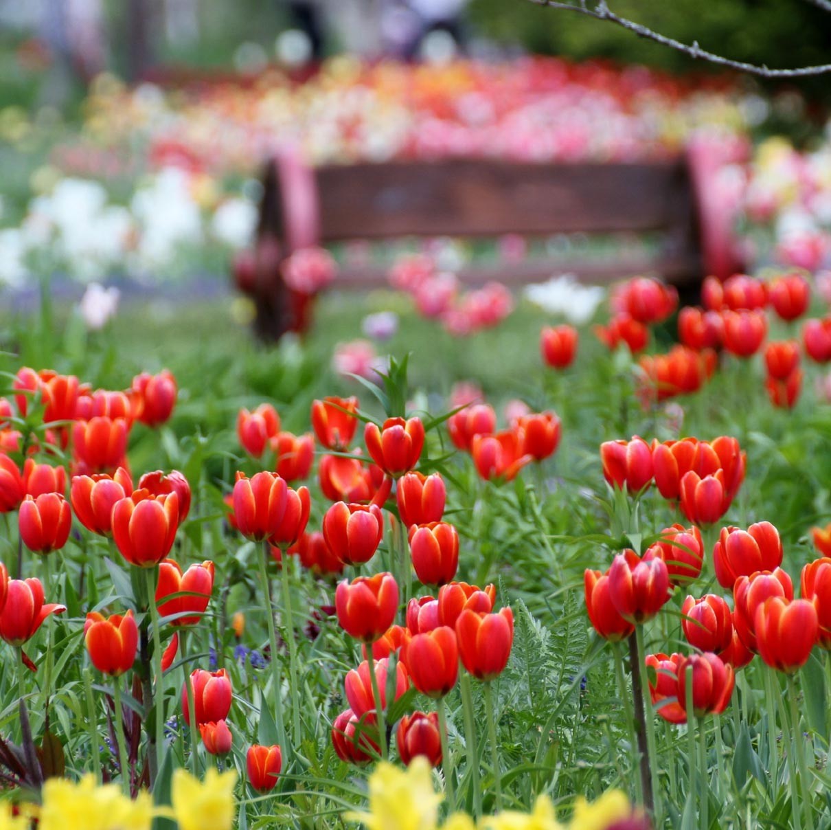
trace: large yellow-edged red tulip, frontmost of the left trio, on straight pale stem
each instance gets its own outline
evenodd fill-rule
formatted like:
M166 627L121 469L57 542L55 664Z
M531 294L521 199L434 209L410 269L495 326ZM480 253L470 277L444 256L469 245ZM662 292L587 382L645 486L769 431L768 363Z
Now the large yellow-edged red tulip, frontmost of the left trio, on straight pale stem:
M112 508L112 535L121 556L140 568L158 565L170 553L179 526L179 497L135 490Z

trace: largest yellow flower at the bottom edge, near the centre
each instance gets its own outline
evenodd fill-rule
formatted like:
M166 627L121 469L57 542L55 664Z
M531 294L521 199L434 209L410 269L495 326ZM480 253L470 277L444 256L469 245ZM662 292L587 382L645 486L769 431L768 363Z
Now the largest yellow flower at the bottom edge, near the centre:
M406 769L382 762L369 779L369 810L345 818L368 830L435 830L441 798L426 758L414 758Z

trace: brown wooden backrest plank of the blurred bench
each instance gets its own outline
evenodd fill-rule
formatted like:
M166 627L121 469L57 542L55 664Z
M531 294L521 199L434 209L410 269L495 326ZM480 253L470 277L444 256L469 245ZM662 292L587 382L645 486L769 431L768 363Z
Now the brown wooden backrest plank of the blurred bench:
M322 242L397 236L494 236L688 225L681 160L521 164L389 162L317 170Z

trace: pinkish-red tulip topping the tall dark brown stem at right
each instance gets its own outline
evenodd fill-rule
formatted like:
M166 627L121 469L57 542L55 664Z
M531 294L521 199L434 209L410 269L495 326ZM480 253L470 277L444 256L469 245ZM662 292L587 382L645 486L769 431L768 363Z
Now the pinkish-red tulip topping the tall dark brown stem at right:
M670 576L660 556L635 551L615 556L609 568L609 599L624 620L651 620L670 596Z

